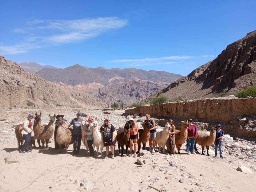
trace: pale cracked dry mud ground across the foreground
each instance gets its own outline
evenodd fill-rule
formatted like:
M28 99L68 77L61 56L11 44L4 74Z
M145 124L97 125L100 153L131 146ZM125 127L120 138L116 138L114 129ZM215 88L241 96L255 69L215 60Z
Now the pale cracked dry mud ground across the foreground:
M99 119L109 116L113 122L118 122L117 128L125 121L125 117L120 116L123 111L110 111L110 115L103 112L89 110L87 114L97 115ZM64 115L71 118L73 114ZM149 145L146 146L148 149ZM0 144L0 191L79 191L82 190L79 184L84 178L94 183L94 187L88 189L94 192L156 191L148 185L169 192L189 191L192 188L216 192L255 191L256 187L255 171L251 169L252 174L245 174L236 170L240 164L248 168L256 167L256 162L251 159L244 161L226 153L223 154L224 159L214 158L213 147L210 147L210 156L188 156L184 144L180 155L148 155L149 159L143 167L135 163L137 158L120 156L117 145L114 159L102 159L100 153L98 158L89 159L84 147L81 147L80 156L71 155L72 146L68 148L68 154L64 154L64 150L63 154L57 154L53 142L48 149L37 148L31 154L21 154L16 147L16 142ZM105 156L105 152L103 154ZM20 163L6 164L5 157L17 158ZM176 162L178 167L171 167L169 161ZM77 179L80 182L74 184Z

